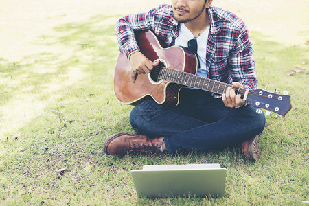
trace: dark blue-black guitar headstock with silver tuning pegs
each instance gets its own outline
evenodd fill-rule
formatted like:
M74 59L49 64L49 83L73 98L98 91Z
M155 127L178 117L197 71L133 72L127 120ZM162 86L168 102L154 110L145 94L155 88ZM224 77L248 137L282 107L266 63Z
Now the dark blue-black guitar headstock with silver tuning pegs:
M277 89L276 91L277 92ZM247 100L257 108L264 108L268 111L273 111L279 115L286 115L292 105L290 103L290 96L285 94L271 93L262 89L251 90L248 93ZM261 111L262 112L262 111ZM267 113L266 115L269 115Z

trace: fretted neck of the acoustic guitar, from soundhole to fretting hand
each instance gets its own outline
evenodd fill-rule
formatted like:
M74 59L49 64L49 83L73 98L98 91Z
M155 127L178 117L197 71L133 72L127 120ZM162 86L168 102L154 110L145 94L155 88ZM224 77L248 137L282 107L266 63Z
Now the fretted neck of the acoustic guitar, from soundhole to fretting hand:
M178 71L176 69L170 69L163 67L159 72L159 79L168 80L170 82L175 82L187 87L193 87L196 89L202 89L212 93L218 93L222 95L227 90L227 87L235 89L236 95L241 94L244 96L246 89L235 88L231 84L226 84L223 82L218 82L216 80L211 80L209 78L203 78L201 76L196 76L192 73L185 73L183 71Z

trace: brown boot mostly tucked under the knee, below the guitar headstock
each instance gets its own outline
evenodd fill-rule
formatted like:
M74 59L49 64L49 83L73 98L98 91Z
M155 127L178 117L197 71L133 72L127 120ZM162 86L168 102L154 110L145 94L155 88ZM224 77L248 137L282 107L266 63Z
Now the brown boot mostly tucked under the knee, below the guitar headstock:
M244 156L253 161L257 161L260 157L259 137L255 136L252 139L242 142L242 152Z

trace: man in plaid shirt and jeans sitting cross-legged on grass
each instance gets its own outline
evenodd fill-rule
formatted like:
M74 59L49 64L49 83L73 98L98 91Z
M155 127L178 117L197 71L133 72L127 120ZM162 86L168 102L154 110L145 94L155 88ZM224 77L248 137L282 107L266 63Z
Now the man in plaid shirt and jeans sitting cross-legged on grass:
M212 0L172 0L172 5L124 16L117 23L119 49L138 75L150 73L159 62L139 52L135 31L151 30L168 46L197 43L198 76L256 89L253 48L247 27L237 16L211 5ZM176 107L154 100L138 104L130 113L137 134L115 133L104 143L107 155L130 152L208 150L241 144L244 155L256 161L260 155L257 135L265 126L264 113L228 88L222 97L185 87Z

